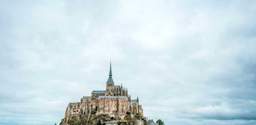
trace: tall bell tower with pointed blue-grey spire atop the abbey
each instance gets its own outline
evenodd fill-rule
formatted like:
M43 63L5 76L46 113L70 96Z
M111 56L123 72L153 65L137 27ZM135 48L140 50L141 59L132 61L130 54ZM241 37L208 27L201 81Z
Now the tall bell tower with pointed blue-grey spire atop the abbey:
M109 75L109 79L106 83L105 96L113 96L113 95L114 95L114 81L112 79L111 61L110 61L110 75Z

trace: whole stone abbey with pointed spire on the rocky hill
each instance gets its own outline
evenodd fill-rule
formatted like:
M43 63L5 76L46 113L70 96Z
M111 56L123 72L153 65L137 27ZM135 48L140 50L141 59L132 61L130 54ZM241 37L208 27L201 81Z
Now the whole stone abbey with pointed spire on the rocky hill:
M111 117L124 118L126 112L131 114L139 113L143 116L143 109L139 104L139 99L132 100L128 94L127 88L122 84L115 85L112 79L111 62L110 74L106 83L105 91L92 91L91 96L83 96L80 102L69 103L66 111L64 122L65 125L71 117L80 117L82 114L109 114Z

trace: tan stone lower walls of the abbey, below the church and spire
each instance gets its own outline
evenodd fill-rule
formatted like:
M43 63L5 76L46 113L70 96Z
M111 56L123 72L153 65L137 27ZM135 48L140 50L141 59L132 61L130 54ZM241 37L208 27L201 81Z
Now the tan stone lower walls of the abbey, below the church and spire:
M81 102L68 104L63 123L67 123L73 116L79 118L80 115L89 114L90 112L109 114L111 117L121 119L125 117L126 112L143 115L141 105L138 102L129 102L129 99L125 96L99 96L98 98L84 96L81 98Z

